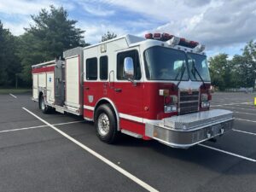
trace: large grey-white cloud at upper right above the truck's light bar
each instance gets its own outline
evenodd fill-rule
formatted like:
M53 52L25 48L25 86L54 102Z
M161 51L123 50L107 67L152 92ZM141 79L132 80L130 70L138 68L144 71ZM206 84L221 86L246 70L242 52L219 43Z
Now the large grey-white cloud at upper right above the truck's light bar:
M179 22L171 20L158 31L199 40L210 49L241 44L256 38L256 2L224 1Z

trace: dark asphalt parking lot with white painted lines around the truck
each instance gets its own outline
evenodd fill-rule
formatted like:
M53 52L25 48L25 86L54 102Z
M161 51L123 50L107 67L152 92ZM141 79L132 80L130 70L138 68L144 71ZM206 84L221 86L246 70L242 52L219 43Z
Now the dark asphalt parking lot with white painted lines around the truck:
M256 191L254 96L214 93L212 108L233 111L234 130L177 149L128 136L108 145L82 118L0 95L0 191Z

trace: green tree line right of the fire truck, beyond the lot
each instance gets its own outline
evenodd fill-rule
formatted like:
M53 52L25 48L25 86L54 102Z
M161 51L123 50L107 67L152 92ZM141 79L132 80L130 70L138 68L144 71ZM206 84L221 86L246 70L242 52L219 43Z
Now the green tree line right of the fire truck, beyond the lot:
M256 42L248 42L241 55L231 60L227 54L218 54L208 60L212 85L219 90L253 87L256 79Z

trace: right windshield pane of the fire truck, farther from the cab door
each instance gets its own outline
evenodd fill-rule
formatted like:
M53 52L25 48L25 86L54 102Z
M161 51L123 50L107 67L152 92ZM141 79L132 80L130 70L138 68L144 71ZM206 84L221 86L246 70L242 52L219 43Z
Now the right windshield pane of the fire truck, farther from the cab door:
M206 55L188 53L188 62L190 79L192 81L201 81L201 79L203 79L204 81L211 81ZM196 70L198 71L198 73L200 73L201 78L196 72Z

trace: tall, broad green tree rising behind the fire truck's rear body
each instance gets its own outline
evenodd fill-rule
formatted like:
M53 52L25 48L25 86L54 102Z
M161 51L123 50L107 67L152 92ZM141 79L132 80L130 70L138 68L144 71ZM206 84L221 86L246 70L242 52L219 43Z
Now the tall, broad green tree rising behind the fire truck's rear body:
M75 27L77 20L68 20L67 10L50 6L32 15L34 25L26 28L20 37L22 77L31 83L31 66L62 56L65 49L86 45L81 29Z

